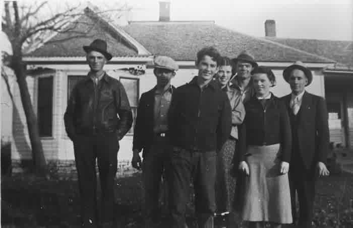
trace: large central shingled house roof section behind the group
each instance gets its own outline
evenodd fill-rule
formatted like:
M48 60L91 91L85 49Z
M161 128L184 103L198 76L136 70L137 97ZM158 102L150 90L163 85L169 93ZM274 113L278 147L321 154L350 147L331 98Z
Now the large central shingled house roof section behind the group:
M271 40L232 31L213 22L133 22L123 29L151 53L175 60L195 60L198 50L215 46L222 55L229 57L248 50L257 61L335 62Z

